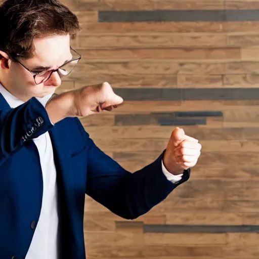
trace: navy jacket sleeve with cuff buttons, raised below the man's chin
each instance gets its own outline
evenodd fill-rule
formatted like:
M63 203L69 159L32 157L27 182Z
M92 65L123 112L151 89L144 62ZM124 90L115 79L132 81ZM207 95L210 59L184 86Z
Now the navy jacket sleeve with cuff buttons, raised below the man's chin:
M52 127L45 107L34 97L17 108L0 110L0 165Z

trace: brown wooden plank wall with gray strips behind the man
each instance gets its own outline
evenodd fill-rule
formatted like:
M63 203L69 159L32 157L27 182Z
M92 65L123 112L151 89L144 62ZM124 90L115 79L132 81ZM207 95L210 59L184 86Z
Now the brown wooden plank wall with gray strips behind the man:
M87 197L88 259L258 258L259 1L62 3L79 17L83 58L58 93L108 81L125 99L81 119L96 144L131 171L176 125L203 145L191 179L135 221Z

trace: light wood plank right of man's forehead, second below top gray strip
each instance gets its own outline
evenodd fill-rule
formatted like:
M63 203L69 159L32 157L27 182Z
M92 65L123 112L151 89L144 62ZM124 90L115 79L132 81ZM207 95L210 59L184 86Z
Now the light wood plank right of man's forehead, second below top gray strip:
M259 43L258 43L259 45ZM120 48L199 48L227 47L226 34L214 33L88 33L79 35L74 48L115 49ZM238 46L239 47L239 46Z

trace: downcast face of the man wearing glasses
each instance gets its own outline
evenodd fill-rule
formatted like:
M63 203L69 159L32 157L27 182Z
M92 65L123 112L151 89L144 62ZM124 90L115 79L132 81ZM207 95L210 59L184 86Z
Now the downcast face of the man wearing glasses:
M22 65L32 72L57 69L66 61L72 59L69 35L34 39L34 46L36 54L33 58L19 59ZM9 92L22 101L27 101L32 97L44 97L53 94L61 84L57 72L52 73L47 81L36 84L33 75L18 62L9 60L8 66L3 63L3 59L0 60L1 82Z

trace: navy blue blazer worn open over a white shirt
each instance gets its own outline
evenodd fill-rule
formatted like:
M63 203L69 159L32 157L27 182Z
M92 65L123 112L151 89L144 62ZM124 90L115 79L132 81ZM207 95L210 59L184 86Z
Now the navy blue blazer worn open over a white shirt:
M98 116L98 115L97 115ZM0 94L0 258L24 259L42 200L42 174L32 141L49 131L57 168L61 258L85 259L83 216L88 194L124 219L136 219L161 202L173 184L162 173L162 154L134 174L102 152L78 118L53 125L36 98L11 109Z

